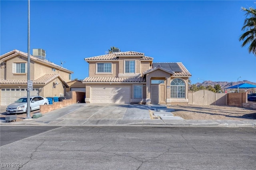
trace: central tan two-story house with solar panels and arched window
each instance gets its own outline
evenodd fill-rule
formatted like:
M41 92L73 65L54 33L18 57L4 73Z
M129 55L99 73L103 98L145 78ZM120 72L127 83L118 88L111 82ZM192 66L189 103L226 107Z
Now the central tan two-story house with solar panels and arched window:
M89 63L86 103L187 104L188 78L182 63L153 63L128 51L85 58Z

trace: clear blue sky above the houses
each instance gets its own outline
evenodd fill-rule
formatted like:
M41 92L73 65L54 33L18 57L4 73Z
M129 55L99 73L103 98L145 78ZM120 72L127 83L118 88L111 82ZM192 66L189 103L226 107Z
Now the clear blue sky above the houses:
M30 0L30 53L88 77L84 58L110 46L137 51L153 62L182 62L192 84L256 83L256 57L241 47L244 12L254 1L34 1ZM27 52L28 1L0 1L0 55ZM200 78L200 79L198 79Z

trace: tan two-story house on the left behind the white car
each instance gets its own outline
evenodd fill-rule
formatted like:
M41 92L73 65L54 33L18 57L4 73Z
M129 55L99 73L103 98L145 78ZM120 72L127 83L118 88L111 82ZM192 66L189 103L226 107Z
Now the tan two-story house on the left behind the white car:
M33 56L34 55L34 56ZM72 71L45 59L43 49L33 49L30 55L30 96L65 96ZM0 56L0 104L9 105L27 95L28 54L14 49Z

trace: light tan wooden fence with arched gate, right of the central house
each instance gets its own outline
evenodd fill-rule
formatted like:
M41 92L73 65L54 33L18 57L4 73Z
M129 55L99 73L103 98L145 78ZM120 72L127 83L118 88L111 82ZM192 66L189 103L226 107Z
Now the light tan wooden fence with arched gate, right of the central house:
M189 105L227 105L228 95L226 93L214 93L210 90L199 90L188 93Z

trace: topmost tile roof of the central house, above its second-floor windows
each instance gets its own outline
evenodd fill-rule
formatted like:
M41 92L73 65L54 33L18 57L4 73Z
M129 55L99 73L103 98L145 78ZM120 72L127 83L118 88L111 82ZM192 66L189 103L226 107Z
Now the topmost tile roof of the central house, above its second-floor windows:
M118 60L118 57L123 57L125 55L127 55L127 56L140 56L141 55L140 60L153 60L152 57L144 56L144 53L134 52L134 51L99 55L99 56L96 56L96 57L85 58L84 60L86 60L86 61L88 61L88 60Z

